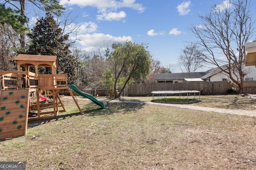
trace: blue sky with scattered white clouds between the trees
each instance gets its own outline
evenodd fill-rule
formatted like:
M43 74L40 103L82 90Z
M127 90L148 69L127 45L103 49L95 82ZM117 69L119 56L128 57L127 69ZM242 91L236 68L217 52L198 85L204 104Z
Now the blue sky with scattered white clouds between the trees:
M59 0L80 26L76 46L84 49L111 47L113 42L131 40L148 44L152 57L172 72L181 72L180 50L193 41L188 30L200 25L205 15L223 0ZM70 35L70 39L75 39ZM207 68L205 68L206 70ZM203 70L203 71L205 71Z

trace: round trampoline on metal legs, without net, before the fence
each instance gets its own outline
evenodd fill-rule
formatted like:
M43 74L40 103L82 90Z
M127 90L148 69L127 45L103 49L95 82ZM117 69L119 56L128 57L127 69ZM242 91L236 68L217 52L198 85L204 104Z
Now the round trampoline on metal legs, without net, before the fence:
M162 102L163 99L165 99L165 101L167 102L167 98L166 98L167 94L180 94L180 95L187 94L187 99L188 99L188 95L191 93L194 93L194 99L196 97L196 93L198 93L199 101L200 101L200 91L197 91L197 90L154 91L151 93L153 95L153 100L155 100L155 95L158 97L157 102L159 101ZM190 101L190 102L194 102L194 101ZM189 102L189 99L188 99L188 102Z

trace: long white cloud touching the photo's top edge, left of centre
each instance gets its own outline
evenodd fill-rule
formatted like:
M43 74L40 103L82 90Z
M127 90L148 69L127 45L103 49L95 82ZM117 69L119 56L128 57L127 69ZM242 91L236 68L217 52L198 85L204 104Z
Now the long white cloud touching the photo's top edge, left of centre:
M135 3L135 0L60 0L62 5L78 5L80 7L92 6L98 10L104 9L118 9L118 8L132 8L138 12L144 12L145 8L142 4Z

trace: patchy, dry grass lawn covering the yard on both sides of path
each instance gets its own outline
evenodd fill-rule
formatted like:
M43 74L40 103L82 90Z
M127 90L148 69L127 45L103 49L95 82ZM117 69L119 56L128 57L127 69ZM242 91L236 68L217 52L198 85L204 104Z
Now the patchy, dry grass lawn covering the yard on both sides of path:
M0 161L27 170L255 169L256 117L178 107L64 98L56 119L29 122L28 135L0 141ZM194 106L255 109L240 95L201 96ZM121 100L150 102L152 97Z

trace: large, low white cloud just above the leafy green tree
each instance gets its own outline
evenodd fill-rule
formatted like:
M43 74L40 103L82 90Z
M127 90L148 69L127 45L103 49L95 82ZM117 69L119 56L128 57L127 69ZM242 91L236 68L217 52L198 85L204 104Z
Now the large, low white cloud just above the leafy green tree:
M115 37L109 34L93 33L93 34L80 34L77 36L70 36L71 40L79 39L77 41L84 49L90 50L94 48L104 47L104 43L112 45L114 42L123 43L125 41L133 41L130 36Z

